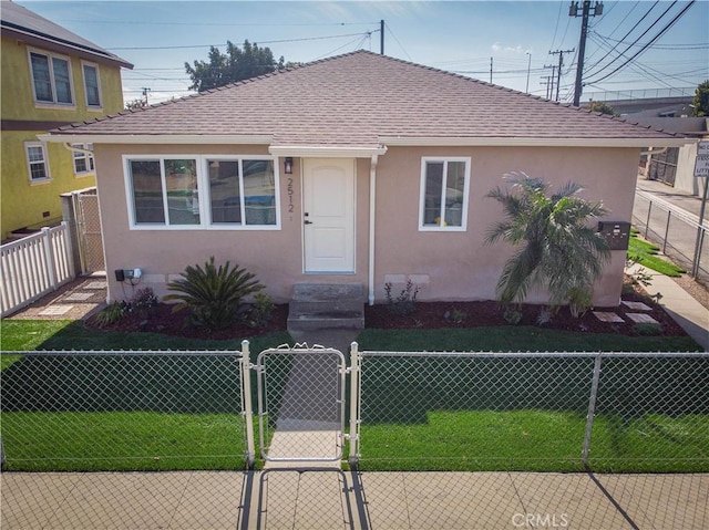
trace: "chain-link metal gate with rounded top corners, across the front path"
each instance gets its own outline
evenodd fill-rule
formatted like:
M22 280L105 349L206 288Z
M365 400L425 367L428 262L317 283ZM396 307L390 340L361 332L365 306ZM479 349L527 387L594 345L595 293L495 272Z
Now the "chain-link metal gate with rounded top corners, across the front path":
M265 350L257 358L261 457L270 461L336 461L345 447L341 352L316 346Z

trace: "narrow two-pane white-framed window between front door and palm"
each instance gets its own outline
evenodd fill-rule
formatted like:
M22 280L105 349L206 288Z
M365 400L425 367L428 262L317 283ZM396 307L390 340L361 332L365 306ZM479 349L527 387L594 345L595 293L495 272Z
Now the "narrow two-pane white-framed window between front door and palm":
M419 229L462 231L466 228L470 158L421 160Z

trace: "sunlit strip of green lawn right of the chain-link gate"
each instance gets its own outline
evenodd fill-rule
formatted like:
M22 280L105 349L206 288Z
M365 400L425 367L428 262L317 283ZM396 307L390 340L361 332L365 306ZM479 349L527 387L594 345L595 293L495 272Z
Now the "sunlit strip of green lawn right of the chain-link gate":
M360 469L582 471L585 427L565 411L430 412L422 424L362 425ZM590 448L597 472L708 472L709 416L599 415Z

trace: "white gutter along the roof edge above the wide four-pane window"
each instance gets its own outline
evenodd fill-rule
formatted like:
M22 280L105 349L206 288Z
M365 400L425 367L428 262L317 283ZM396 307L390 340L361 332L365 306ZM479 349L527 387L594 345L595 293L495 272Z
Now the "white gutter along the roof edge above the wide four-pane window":
M268 145L271 136L265 135L203 135L203 134L38 134L41 142L68 144L259 144Z

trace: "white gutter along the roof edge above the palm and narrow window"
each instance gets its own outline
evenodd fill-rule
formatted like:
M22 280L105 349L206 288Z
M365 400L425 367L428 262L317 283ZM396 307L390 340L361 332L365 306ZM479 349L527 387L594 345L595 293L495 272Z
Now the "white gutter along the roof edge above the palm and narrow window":
M380 136L388 146L441 147L681 147L697 138L526 138L526 137L402 137Z

